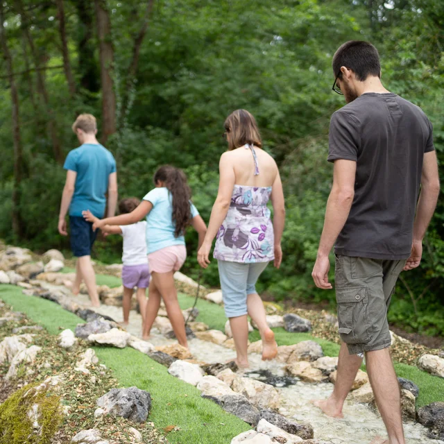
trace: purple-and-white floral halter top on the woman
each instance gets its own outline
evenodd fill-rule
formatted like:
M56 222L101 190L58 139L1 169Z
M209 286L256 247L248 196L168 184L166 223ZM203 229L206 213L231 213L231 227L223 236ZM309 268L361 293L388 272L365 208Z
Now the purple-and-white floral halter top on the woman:
M259 174L255 149L255 176ZM230 208L216 235L215 259L228 262L269 262L274 259L271 212L266 206L271 187L234 185Z

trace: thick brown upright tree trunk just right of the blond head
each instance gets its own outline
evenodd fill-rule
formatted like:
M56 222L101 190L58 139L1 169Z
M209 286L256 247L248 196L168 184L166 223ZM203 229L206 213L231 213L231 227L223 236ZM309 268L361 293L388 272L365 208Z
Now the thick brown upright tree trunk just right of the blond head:
M96 6L97 35L99 37L100 70L102 85L102 136L104 144L116 132L116 96L111 77L114 49L111 42L110 15L104 0L94 0Z

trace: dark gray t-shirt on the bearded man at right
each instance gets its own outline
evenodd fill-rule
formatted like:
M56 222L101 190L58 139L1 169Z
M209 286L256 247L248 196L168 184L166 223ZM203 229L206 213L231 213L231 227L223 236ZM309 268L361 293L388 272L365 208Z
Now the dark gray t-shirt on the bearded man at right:
M357 162L355 198L336 241L337 255L407 259L424 153L432 123L393 93L366 93L332 115L329 162Z

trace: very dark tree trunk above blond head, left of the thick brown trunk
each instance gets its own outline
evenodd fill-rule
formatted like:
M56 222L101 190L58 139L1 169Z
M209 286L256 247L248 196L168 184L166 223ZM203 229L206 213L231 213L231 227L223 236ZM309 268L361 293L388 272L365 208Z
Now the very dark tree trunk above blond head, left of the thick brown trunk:
M80 86L89 92L99 92L99 69L94 58L95 43L92 40L94 32L94 9L89 0L75 0L78 24L78 73Z

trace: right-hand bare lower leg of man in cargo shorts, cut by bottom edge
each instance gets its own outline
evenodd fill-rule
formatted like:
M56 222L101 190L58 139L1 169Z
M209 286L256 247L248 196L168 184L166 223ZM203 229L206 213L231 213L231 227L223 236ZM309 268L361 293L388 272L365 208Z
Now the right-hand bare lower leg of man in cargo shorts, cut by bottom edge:
M386 425L389 444L404 444L400 387L388 348L366 353L368 378L382 420Z

